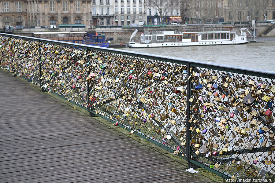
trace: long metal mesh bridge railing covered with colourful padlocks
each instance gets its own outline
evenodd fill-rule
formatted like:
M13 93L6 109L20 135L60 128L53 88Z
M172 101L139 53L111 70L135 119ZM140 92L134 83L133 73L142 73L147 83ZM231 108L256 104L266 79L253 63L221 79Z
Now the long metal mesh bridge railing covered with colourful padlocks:
M274 71L0 36L3 69L174 152L189 167L224 178L274 177Z

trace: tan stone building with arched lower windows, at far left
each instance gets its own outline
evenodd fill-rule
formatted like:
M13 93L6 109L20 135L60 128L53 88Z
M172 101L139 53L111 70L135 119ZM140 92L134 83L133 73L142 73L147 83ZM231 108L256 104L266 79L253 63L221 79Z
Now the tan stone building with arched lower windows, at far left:
M91 25L91 1L85 0L0 0L0 27Z

